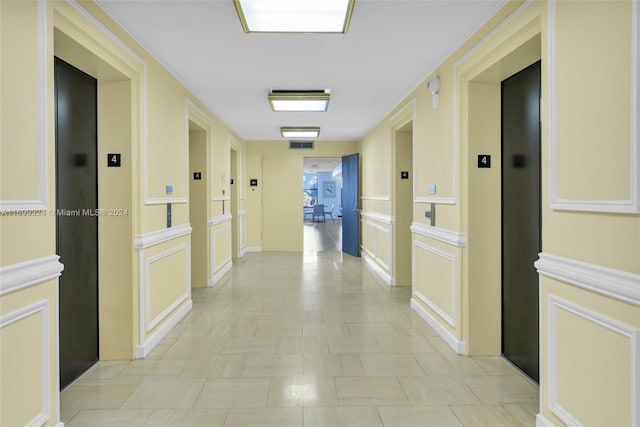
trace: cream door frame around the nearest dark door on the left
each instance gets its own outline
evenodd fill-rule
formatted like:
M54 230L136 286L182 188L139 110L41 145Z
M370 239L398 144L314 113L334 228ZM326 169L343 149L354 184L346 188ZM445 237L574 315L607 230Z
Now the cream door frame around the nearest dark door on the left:
M126 212L119 221L107 216L98 218L99 360L132 359L138 314L134 305L138 275L132 242L140 215L142 177L138 171L146 132L146 124L134 125L138 118L146 117L145 65L111 33L96 29L80 6L56 3L51 7L54 12L49 27L53 39L48 47L49 81L53 81L54 56L98 80L98 206ZM114 87L117 90L112 91ZM50 112L54 102L50 88ZM119 126L110 125L113 120L119 120ZM52 140L54 128L55 122L50 120L48 132ZM114 151L122 154L121 167L107 170L106 154ZM56 171L51 173L55 176ZM111 265L119 268L107 268Z

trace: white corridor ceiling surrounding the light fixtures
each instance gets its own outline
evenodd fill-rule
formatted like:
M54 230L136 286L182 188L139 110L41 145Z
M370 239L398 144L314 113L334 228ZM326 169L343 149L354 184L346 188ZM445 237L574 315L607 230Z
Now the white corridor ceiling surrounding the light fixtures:
M246 140L320 126L358 140L504 0L356 0L348 34L245 34L232 0L98 0ZM325 113L274 113L271 89L330 89ZM426 87L424 88L426 91Z

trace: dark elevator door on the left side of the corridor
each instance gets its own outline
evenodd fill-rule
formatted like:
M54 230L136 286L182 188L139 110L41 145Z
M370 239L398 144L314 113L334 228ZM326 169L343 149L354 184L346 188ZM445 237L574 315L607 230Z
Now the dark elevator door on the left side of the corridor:
M55 59L60 388L98 360L97 81Z

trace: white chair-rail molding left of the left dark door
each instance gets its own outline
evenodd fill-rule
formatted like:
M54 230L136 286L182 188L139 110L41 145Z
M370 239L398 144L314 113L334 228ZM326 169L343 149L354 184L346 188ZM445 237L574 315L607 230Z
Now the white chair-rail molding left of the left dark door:
M0 296L60 277L64 265L58 255L0 267Z

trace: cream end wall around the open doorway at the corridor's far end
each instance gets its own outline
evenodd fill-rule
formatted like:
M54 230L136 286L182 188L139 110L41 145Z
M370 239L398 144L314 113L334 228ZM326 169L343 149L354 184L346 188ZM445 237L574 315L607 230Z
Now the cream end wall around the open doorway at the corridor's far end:
M302 250L302 164L304 157L342 157L348 154L358 152L356 142L350 141L316 141L313 150L289 150L288 141L247 141L246 142L246 201L245 209L247 211L247 249L248 250L268 250L269 248L281 248L278 250ZM273 221L263 217L263 199L267 197L265 194L265 177L264 177L264 159L270 158L269 162L278 168L278 162L281 167L289 165L299 171L291 175L291 179L278 178L275 182L276 187L271 188L274 197L287 197L286 203L291 221L289 223L282 222L278 218ZM250 187L249 180L258 179L257 187ZM299 195L299 197L298 197ZM299 224L298 224L299 223ZM292 224L296 224L292 227ZM270 227L265 232L266 227ZM264 227L264 228L263 228ZM280 233L280 235L278 235ZM275 241L276 238L290 234L290 240L284 246L279 245ZM264 246L267 237L270 237L267 246ZM273 241L273 242L272 242ZM286 249L284 249L286 248ZM276 249L270 249L276 250Z

